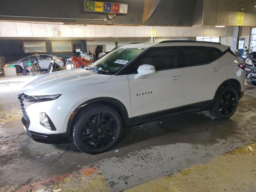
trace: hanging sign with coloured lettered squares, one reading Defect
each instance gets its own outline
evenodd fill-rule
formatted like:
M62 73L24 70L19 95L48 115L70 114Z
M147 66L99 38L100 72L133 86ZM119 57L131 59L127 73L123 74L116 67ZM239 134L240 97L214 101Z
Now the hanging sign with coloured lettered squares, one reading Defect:
M84 0L84 11L126 14L128 4Z

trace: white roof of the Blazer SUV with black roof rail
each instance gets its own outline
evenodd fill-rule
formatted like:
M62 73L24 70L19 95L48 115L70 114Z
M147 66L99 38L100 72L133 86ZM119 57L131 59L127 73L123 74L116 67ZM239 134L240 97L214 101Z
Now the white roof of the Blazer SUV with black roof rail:
M216 42L204 42L204 41L189 41L189 40L170 40L170 41L162 41L162 42L154 42L154 43L136 43L136 44L128 44L122 46L120 48L149 48L149 47L164 47L164 46L208 46L208 47L216 47L221 51L225 51L229 46L222 45Z

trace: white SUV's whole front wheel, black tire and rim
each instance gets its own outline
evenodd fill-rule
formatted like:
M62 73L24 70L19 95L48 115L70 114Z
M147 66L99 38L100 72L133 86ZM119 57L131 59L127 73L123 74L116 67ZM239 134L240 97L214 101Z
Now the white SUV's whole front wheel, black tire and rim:
M74 122L73 139L77 148L89 154L112 148L122 133L122 119L108 105L92 104L84 108Z

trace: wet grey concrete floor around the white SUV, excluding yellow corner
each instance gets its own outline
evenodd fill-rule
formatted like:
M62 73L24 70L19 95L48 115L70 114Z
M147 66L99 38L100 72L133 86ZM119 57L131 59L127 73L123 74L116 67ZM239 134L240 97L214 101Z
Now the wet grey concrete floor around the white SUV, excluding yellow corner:
M159 179L162 178L164 183L173 183L179 177L176 177L177 174L186 176L190 174L190 170L198 171L196 168L198 164L208 166L207 169L200 168L200 171L212 174L212 177L221 177L224 173L214 174L221 172L221 169L211 169L209 164L216 158L221 159L222 154L256 141L256 87L246 84L245 94L240 100L238 109L228 120L218 121L204 114L189 114L162 120L167 122L164 128L160 122L151 122L126 130L121 142L112 150L96 155L78 151L73 143L58 145L37 143L23 130L20 121L22 115L17 100L17 94L22 87L33 78L35 77L0 77L1 192L116 192L128 188L130 191L150 191L146 186L150 186L151 191L166 191L154 188L152 182L159 184L161 183ZM251 148L253 151L253 146ZM241 158L237 158L234 166L243 166L243 161L239 161ZM248 160L246 156L243 158ZM256 164L255 157L251 161L250 164ZM247 167L244 169L246 172L241 171L240 174L231 172L229 175L230 178L246 179L246 182L249 182L247 186L241 188L236 186L237 180L223 178L218 180L226 184L221 190L256 191L256 168L247 165L244 164ZM171 177L173 175L174 177ZM248 175L249 178L246 177ZM170 177L172 180L169 179ZM150 180L152 181L148 182ZM184 186L186 182L183 180ZM215 186L222 186L218 182ZM207 182L203 184L196 179L188 183L192 183L193 187L209 186ZM134 186L137 188L132 188ZM200 190L202 188L195 189L193 191L202 191ZM168 188L167 191L192 190Z

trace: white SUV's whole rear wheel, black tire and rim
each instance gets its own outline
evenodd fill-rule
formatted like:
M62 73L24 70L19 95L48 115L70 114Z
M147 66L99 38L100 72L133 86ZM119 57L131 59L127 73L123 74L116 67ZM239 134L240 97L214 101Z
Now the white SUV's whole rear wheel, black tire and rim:
M210 109L212 116L219 120L230 118L238 106L238 91L233 86L226 86L218 91L214 105Z

